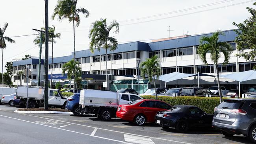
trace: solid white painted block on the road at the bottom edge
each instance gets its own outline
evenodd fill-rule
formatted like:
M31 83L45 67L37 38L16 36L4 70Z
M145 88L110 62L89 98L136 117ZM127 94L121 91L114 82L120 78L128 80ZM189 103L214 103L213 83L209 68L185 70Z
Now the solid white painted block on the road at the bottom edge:
M126 142L133 142L137 144L155 144L150 138L138 137L134 135L124 134L124 140Z

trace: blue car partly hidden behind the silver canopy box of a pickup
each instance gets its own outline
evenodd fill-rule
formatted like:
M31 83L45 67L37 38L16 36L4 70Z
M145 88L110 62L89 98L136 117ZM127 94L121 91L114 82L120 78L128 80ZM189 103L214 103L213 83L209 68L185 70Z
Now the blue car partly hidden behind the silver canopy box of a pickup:
M82 116L83 115L83 109L82 107L79 107L79 98L80 93L75 93L72 96L69 96L67 98L67 103L65 109L67 111L72 111L74 116Z

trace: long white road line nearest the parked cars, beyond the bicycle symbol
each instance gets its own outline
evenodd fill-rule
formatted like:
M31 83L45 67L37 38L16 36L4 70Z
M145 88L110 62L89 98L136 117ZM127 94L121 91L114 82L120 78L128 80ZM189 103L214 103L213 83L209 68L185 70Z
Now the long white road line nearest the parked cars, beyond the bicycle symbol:
M1 115L0 115L0 116L1 116ZM33 115L28 114L28 116L33 116ZM40 116L33 116L33 117L43 118L43 117L40 117ZM54 119L50 119L50 118L44 118L44 119L54 120ZM61 120L58 120L58 121L59 121L59 122L65 122L65 121L61 121ZM76 123L72 123L72 122L65 122L65 123L74 124L74 125L78 125L78 126L84 126L84 127L98 128L98 129L102 129L102 130L105 130L105 131L113 131L113 132L116 132L116 133L123 133L123 134L128 134L128 135L135 135L135 136L139 136L139 137L154 138L154 139L165 140L165 141L169 141L169 142L177 142L177 143L181 143L181 144L192 144L192 143L189 143L189 142L180 142L180 141L176 141L176 140L168 140L168 139L157 138L157 137L148 137L148 136L144 136L144 135L137 135L137 134L132 134L132 133L125 133L125 132L122 132L122 131L114 131L114 130L103 129L103 128L99 128L99 127L86 126L86 125L76 124Z

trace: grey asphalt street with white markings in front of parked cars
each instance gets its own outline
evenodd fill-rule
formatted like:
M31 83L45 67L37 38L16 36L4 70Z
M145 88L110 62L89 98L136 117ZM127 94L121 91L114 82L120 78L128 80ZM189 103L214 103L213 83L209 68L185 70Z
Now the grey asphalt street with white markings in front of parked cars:
M152 123L135 126L118 118L102 121L93 115L76 117L70 114L14 113L17 109L0 105L1 144L250 144L242 135L224 137L213 129L177 133L175 129L163 130Z

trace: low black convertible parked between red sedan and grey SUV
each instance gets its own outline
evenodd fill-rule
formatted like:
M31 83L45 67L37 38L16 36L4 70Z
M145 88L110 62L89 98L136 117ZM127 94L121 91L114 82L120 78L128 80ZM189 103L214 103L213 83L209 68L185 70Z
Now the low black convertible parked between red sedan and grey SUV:
M179 133L185 133L189 128L211 128L213 114L207 114L193 105L174 105L168 111L158 112L156 124L162 128L175 127Z

